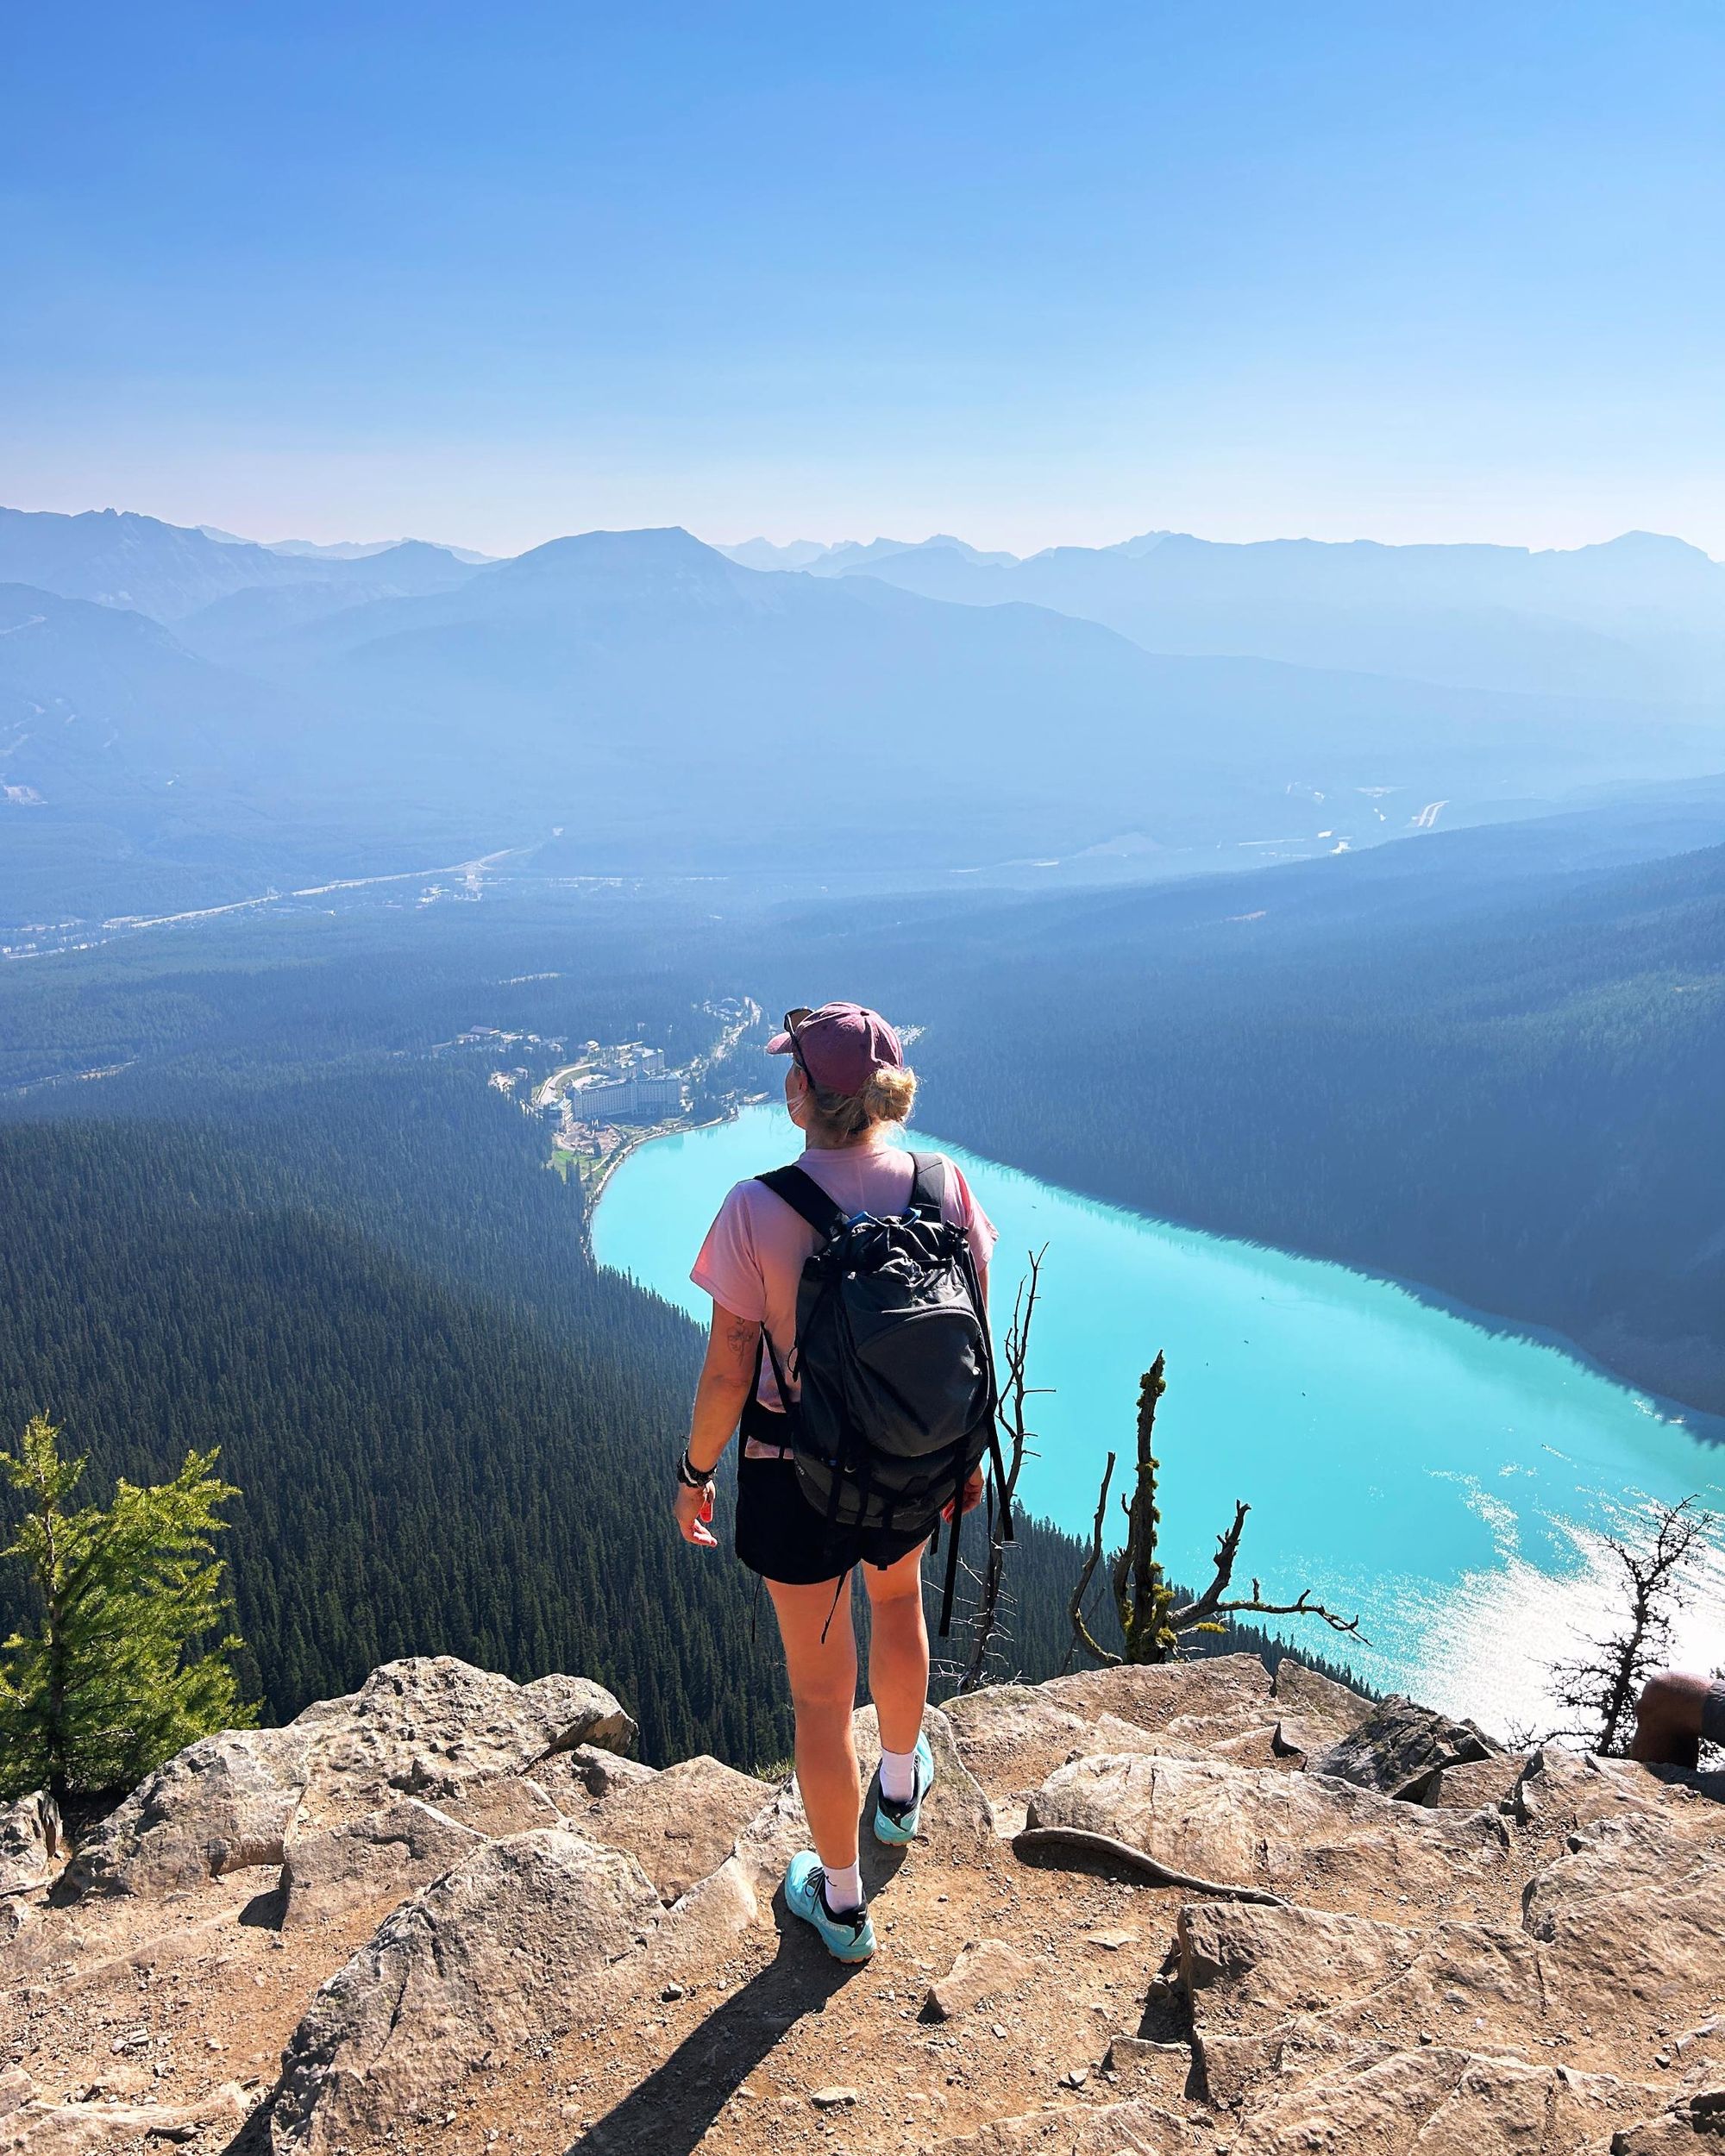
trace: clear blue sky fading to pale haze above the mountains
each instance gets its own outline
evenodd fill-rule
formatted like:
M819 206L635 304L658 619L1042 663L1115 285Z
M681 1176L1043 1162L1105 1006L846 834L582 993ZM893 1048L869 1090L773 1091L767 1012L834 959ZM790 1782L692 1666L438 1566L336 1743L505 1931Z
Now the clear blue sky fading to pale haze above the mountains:
M32 9L0 500L1725 554L1723 91L1716 0Z

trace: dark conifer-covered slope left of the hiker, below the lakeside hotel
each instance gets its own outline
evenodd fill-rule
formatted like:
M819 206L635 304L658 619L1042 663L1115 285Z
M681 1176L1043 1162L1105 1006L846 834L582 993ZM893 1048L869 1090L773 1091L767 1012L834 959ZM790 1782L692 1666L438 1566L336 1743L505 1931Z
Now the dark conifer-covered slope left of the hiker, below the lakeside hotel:
M274 1102L274 1130L0 1130L4 1423L54 1412L97 1485L222 1447L237 1623L274 1712L380 1654L528 1675L580 1651L627 1673L658 1755L774 1755L765 1686L722 1682L742 1580L666 1544L688 1324L578 1259L574 1197L483 1091L345 1091ZM388 1186L427 1177L474 1244L461 1270L496 1272L498 1192L541 1261L563 1212L561 1324L390 1246L412 1222Z

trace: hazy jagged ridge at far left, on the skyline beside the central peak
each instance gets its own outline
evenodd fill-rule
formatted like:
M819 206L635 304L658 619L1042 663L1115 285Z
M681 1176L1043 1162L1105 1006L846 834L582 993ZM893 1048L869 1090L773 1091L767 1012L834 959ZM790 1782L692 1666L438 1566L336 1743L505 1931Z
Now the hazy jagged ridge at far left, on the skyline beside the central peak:
M380 567L388 565L388 567ZM287 591L351 578L356 597L382 589L429 591L466 576L444 548L388 548L367 565L295 558L246 539L162 524L132 511L82 515L0 509L0 582L32 584L67 599L125 606L155 621L181 621L235 591Z

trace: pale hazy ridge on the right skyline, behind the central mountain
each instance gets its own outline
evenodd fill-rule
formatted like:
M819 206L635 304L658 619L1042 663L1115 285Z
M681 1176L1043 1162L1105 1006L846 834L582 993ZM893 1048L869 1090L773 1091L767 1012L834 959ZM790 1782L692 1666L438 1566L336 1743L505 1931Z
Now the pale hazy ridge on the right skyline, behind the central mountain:
M1102 621L1147 651L1276 658L1462 688L1719 703L1725 565L1626 533L1574 552L1503 545L1218 545L1145 533L1026 561L953 543L828 550L817 576L867 569L966 606L1031 602Z

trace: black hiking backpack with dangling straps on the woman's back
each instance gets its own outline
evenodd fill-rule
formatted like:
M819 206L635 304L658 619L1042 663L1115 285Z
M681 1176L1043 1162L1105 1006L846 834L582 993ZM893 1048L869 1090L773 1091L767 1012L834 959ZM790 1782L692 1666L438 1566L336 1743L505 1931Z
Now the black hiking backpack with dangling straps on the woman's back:
M901 1214L845 1214L796 1166L757 1177L819 1235L796 1291L800 1399L765 1328L761 1339L789 1414L802 1492L828 1526L854 1529L858 1539L865 1529L938 1537L942 1505L985 1455L1005 1490L994 1350L970 1238L942 1216L940 1153L910 1160ZM957 1522L953 1514L942 1636L951 1630Z

